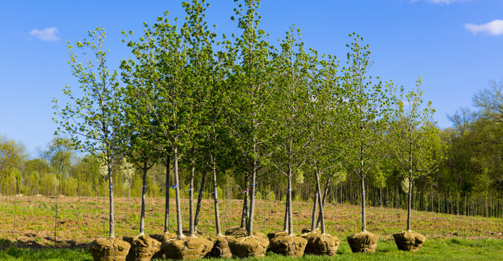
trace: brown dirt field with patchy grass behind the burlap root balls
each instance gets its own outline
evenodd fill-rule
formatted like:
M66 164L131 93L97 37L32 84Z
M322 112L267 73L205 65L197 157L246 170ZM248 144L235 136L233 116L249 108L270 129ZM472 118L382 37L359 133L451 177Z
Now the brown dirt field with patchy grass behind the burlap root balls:
M294 202L294 230L310 226L312 203ZM108 236L108 198L59 197L55 223L56 199L48 197L2 196L0 213L0 248L10 246L41 248L46 246L84 246L97 237ZM239 224L242 201L222 200L222 230ZM183 226L188 225L188 201L182 202ZM176 205L170 203L170 229L176 227ZM199 229L214 234L213 200L202 204ZM134 235L138 231L140 199L115 199L115 235ZM254 228L263 233L283 228L284 203L258 201ZM327 232L345 238L360 227L360 206L328 204L325 206ZM407 212L389 208L367 208L367 229L384 240L405 229ZM56 224L56 240L54 227ZM145 233L163 231L164 200L147 199ZM429 238L503 238L503 221L496 218L467 217L433 212L412 212L412 229Z

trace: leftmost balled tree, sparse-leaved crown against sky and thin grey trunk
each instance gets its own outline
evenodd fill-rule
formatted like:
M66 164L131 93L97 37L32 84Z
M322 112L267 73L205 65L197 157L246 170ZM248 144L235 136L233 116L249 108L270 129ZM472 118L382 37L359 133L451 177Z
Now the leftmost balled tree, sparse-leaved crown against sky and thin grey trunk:
M108 70L106 57L109 51L104 49L104 42L104 28L89 31L89 39L75 44L82 51L81 60L68 42L68 63L80 85L78 92L73 91L69 85L65 86L63 93L68 102L63 108L59 107L56 99L53 100L54 114L59 116L53 120L59 125L56 135L69 135L76 149L87 151L107 166L110 191L109 236L114 237L112 164L124 152L129 135L122 131L124 114L118 73Z

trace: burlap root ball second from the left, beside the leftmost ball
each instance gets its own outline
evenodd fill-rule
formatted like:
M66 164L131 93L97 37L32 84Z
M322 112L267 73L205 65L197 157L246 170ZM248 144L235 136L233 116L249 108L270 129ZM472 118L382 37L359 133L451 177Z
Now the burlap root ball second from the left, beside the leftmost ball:
M160 242L148 235L125 236L123 239L131 245L127 261L148 261L160 250Z

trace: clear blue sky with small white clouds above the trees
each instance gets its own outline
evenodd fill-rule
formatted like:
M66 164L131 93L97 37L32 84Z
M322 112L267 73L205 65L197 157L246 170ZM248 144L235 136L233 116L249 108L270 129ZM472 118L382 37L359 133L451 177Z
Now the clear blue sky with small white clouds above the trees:
M207 21L217 33L238 33L230 20L233 0L209 0ZM66 44L98 25L107 31L110 67L130 56L122 30L140 35L164 11L183 18L181 1L1 1L0 134L44 148L56 125L52 100L76 81ZM422 75L426 100L446 114L471 105L490 79L503 78L503 1L500 0L265 0L261 27L272 41L296 24L302 40L320 53L345 59L348 34L365 38L372 50L371 74L406 88Z

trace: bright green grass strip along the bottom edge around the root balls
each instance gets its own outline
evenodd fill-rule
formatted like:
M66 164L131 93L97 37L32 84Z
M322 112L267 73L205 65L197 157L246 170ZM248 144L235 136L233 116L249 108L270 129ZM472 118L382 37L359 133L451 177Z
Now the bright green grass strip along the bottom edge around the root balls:
M261 261L279 260L497 260L503 253L501 239L431 239L415 253L399 251L393 241L381 241L375 253L352 253L346 240L341 242L334 257L304 255L285 257L268 252ZM92 260L87 249L45 248L39 250L9 248L0 250L0 260ZM219 260L219 259L213 259ZM223 260L223 259L222 259Z

